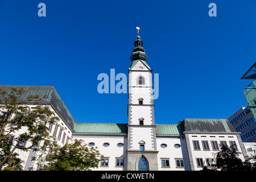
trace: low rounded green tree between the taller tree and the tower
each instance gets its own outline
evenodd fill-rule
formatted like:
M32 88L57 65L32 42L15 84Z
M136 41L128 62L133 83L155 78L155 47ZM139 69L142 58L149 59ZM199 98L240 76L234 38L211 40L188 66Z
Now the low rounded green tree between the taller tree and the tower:
M46 156L43 164L44 171L89 171L98 168L98 163L103 157L97 147L87 147L80 139L63 147L52 148L52 154Z

